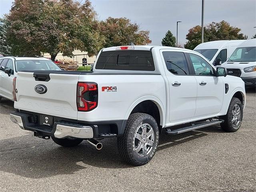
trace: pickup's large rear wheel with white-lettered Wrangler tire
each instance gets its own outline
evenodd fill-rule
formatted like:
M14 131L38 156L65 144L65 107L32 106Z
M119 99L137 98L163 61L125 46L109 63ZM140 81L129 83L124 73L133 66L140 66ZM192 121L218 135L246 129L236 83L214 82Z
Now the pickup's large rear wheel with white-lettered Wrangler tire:
M159 130L156 120L144 113L131 114L124 134L118 137L118 150L122 158L135 166L148 163L156 153Z

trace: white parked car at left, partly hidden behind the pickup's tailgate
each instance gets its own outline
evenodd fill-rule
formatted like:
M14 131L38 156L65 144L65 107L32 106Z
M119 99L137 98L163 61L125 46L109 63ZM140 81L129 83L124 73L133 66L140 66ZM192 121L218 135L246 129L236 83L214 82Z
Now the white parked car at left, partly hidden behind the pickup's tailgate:
M18 71L61 70L54 62L46 58L2 57L0 58L0 100L2 97L13 98L13 79Z

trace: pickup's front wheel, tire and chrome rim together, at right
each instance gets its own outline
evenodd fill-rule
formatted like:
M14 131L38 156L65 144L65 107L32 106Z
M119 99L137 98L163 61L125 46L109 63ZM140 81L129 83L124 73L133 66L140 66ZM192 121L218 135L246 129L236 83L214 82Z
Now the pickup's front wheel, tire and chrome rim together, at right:
M227 132L236 132L240 128L243 119L243 107L241 101L238 98L232 98L227 114L221 118L224 119L224 122L220 124L223 130Z

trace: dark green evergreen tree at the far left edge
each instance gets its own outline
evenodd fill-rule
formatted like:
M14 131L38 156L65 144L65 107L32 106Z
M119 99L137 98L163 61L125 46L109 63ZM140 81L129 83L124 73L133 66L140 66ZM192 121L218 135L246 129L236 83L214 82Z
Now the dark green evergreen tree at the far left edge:
M4 18L0 18L0 54L10 55L11 48L6 41L6 33L10 23Z

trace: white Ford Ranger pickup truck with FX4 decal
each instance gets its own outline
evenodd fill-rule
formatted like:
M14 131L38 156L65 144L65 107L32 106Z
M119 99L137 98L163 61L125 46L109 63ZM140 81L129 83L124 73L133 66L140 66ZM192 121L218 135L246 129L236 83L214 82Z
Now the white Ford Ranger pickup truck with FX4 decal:
M192 50L118 46L98 54L93 72L20 71L11 120L64 147L117 137L122 158L139 166L159 135L242 123L244 82Z

